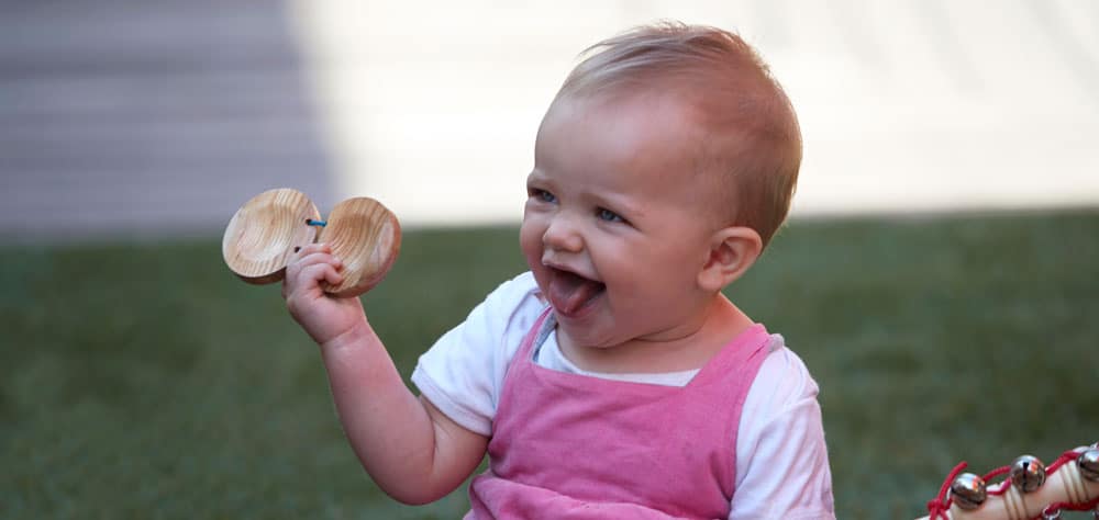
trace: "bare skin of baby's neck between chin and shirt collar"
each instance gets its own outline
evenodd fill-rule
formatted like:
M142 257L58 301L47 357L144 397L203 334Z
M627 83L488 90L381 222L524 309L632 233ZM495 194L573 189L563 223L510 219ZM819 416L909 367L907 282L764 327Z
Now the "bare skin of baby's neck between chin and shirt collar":
M674 339L634 338L610 348L587 348L558 334L557 341L562 354L580 370L604 374L656 374L701 369L752 325L752 318L719 295L698 327Z

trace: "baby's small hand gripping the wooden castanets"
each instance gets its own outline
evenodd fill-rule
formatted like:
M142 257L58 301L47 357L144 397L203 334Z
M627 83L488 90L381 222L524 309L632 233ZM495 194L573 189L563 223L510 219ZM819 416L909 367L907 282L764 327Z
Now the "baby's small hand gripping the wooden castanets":
M321 346L366 321L357 296L337 298L321 289L321 282L333 285L342 282L342 270L343 262L332 256L332 248L326 244L301 248L286 265L286 279L282 280L286 306L290 316Z

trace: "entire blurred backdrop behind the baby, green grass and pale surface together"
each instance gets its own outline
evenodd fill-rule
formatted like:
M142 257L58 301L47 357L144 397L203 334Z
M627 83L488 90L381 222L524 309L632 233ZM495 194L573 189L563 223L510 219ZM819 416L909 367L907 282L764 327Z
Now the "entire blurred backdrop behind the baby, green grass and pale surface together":
M277 287L220 256L270 188L407 229L365 298L406 375L523 270L537 124L630 26L735 30L801 120L731 295L821 384L840 518L1099 440L1099 3L0 3L0 517L452 518L343 441Z

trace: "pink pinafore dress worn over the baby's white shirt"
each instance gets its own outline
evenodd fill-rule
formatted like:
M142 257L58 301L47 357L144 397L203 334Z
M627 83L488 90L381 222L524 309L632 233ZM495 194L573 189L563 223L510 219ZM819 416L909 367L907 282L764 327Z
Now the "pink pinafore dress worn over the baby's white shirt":
M467 519L728 518L741 409L770 337L753 325L684 387L539 366L547 309L504 376Z

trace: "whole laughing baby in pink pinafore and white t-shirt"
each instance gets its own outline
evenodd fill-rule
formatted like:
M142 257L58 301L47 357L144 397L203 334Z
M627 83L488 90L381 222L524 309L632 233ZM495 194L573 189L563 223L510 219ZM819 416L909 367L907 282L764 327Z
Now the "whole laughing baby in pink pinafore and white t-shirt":
M467 518L833 518L804 364L722 290L786 218L789 100L736 35L665 23L591 49L553 100L504 282L401 381L323 245L287 269L340 419L407 504Z

